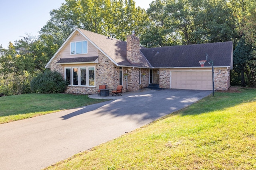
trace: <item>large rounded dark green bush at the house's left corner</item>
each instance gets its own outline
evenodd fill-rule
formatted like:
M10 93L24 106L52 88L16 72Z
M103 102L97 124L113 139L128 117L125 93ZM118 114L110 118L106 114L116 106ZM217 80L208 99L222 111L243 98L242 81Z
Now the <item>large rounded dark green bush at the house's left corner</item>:
M62 93L67 86L68 83L56 71L40 73L30 82L32 92L37 93Z

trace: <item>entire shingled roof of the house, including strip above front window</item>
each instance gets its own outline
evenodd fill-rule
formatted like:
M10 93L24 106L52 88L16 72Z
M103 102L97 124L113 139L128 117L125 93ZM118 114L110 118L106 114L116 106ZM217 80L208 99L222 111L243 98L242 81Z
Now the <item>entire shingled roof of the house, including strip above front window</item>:
M195 45L179 45L156 48L140 47L140 64L130 63L126 59L125 41L111 38L105 35L76 28L46 64L46 68L50 68L50 63L56 55L65 47L69 39L77 33L83 35L90 43L92 43L99 51L101 51L116 66L142 67L142 68L172 68L172 67L200 67L199 61L206 60L206 53L212 59L214 67L230 67L233 68L233 44L232 41L221 43L206 43ZM89 61L86 61L89 60ZM58 63L97 63L96 59L90 57L82 57L80 59L60 59ZM204 66L210 66L205 63Z

